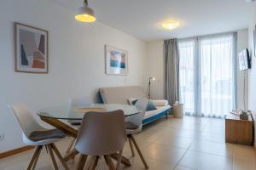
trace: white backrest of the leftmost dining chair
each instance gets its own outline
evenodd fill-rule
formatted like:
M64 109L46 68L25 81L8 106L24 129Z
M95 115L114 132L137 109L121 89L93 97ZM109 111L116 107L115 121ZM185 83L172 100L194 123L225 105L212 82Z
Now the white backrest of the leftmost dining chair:
M28 111L26 105L8 105L10 111L12 111L18 122L22 132L29 138L29 135L42 127L38 124L37 120L32 116L32 113Z

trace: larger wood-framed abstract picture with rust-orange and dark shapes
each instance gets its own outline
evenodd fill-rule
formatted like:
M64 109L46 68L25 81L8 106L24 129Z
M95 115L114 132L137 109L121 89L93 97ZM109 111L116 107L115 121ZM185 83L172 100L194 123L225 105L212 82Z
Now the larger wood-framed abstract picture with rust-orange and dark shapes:
M48 73L48 31L15 23L15 71Z

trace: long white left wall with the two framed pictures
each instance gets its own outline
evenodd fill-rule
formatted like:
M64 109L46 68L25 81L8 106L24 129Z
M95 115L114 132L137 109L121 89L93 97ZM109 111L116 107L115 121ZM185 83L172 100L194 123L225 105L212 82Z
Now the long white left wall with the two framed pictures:
M98 88L141 85L146 88L145 42L100 22L82 24L73 10L52 0L0 1L0 152L23 146L8 104L24 103L32 111L64 105L73 96L96 98ZM14 22L49 31L49 74L14 70ZM129 51L129 75L105 75L104 45ZM35 115L35 117L38 117Z

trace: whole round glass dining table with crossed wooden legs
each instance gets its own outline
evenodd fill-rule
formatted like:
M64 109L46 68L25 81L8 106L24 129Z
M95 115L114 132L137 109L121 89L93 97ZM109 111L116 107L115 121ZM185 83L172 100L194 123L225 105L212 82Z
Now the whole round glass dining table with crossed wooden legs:
M68 121L81 121L84 114L90 111L96 112L109 112L109 111L124 111L124 116L133 116L139 114L143 111L137 109L134 105L119 105L119 104L90 104L90 105L61 105L47 107L37 111L38 116L41 120L49 123L53 127L60 129L62 132L67 133L67 135L77 138L78 129L70 126L68 123L63 122L63 120ZM62 120L62 121L61 121ZM73 149L67 156L64 157L65 161L73 159L79 152ZM112 158L117 160L118 154L112 155ZM125 166L131 166L129 159L122 157L121 163Z

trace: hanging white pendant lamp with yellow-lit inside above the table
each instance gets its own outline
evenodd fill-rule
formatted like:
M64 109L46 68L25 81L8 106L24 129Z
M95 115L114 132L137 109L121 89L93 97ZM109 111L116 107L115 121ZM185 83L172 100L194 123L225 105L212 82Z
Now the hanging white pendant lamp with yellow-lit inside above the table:
M88 0L84 0L83 7L78 9L75 19L79 22L94 22L96 17L92 8L88 7Z

